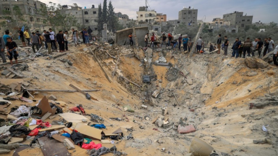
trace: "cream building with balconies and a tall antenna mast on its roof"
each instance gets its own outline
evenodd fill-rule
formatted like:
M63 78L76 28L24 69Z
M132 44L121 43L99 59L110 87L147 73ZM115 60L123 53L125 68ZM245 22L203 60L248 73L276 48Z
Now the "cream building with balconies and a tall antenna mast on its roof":
M146 6L140 6L139 11L136 12L139 24L156 22L156 11L148 10Z

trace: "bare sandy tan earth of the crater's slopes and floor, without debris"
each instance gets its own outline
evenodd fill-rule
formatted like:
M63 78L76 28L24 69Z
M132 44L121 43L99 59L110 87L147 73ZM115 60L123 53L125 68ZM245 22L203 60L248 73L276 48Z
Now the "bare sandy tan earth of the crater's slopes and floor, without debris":
M176 80L168 81L169 67L151 65L151 68L145 68L144 58L148 56L142 49L106 45L101 48L106 49L113 56L119 55L120 60L116 74L112 78L117 58L112 59L106 52L97 52L98 60L101 61L101 65L111 80L109 83L96 62L96 58L88 49L84 51L83 48L85 45L70 47L72 53L60 57L73 62L70 68L65 68L64 63L59 61L60 58L45 60L45 57L38 57L35 61L29 61L27 64L33 75L23 79L30 83L28 86L30 89L72 90L69 84L82 90L100 89L98 92L89 92L98 101L89 101L78 92L39 92L35 95L35 99L40 100L43 96L49 97L54 94L56 101L65 102L64 112L69 111L68 108L71 106L82 104L87 114L97 114L105 119L104 132L123 125L132 126L133 132L123 131L123 133L125 136L131 133L134 139L117 143L118 150L128 155L182 156L189 152L191 141L197 136L214 148L215 155L278 155L277 106L266 105L260 109L256 107L249 109L250 101L259 97L277 95L278 70L276 66L257 58L235 59L214 53L193 54L192 57L188 57L188 53L183 52L178 52L172 57L172 50L163 49L161 52L153 50L152 63L158 60L159 56L164 56L167 63L172 63L179 70L189 72L186 78L178 74ZM92 49L94 48L96 46L92 46ZM50 68L46 68L48 64L51 64ZM253 64L260 64L261 68L253 68ZM143 75L154 76L151 84L142 82ZM124 76L141 87L119 76ZM1 75L1 78L5 77ZM154 100L148 98L155 90L160 91L159 96ZM179 102L175 97L168 96L169 90L175 93ZM9 107L20 104L24 103L18 100L13 101ZM142 104L148 106L146 110L140 109ZM35 103L30 105L34 106ZM122 108L124 105L130 105L135 112L124 111ZM196 132L179 134L174 129L164 132L166 129L152 124L153 119L162 115L162 108L165 106L168 107L168 114L164 116L164 119L168 118L171 126L177 123L193 125ZM190 109L195 111L190 111ZM136 122L133 122L135 116L139 119L136 118ZM150 119L146 120L146 116ZM109 118L112 117L125 120L110 120ZM51 122L50 119L46 121ZM268 132L262 130L263 125L266 126ZM141 129L141 126L144 128ZM268 139L265 144L253 143L253 140L264 139ZM27 140L22 144L29 144L29 142L30 140ZM100 143L97 140L94 142ZM113 144L103 144L103 146L112 147ZM165 150L161 150L162 148ZM86 150L77 145L75 145L75 150L69 150L69 152L75 156L87 155ZM2 155L12 156L13 152ZM35 156L42 155L42 153L40 148L33 147L21 151L18 155Z

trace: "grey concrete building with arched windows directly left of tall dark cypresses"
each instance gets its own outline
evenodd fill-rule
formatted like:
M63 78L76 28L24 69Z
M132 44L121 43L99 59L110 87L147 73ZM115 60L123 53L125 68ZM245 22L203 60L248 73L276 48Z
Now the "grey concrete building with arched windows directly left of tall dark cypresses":
M61 12L63 12L63 9ZM67 9L64 12L65 14L76 17L77 22L80 23L81 26L85 28L90 27L93 31L97 30L98 8L95 8L94 5L92 5L92 8L82 9L75 4L74 7L71 7L71 9Z

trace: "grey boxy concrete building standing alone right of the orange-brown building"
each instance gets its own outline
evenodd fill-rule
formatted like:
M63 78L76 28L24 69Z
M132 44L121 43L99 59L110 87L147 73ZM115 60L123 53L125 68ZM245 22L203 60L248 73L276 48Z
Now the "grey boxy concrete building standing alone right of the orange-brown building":
M194 9L193 7L191 9L190 6L186 8L184 6L183 9L179 11L179 21L188 26L196 26L198 24L197 15L198 9Z

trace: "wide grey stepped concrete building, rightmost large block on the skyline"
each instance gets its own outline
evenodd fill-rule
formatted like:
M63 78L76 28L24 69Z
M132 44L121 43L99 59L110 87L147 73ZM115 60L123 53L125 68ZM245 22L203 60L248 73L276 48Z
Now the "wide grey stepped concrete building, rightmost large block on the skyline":
M228 25L237 25L238 27L245 27L246 25L252 25L253 16L243 16L243 12L233 12L229 14L224 14L224 22Z

